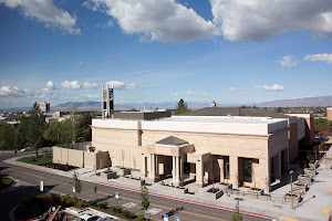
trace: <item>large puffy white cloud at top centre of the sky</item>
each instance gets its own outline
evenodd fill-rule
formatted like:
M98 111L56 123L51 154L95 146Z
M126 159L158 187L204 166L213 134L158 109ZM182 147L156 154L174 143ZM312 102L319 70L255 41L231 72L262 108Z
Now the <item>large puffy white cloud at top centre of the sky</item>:
M184 43L218 32L211 21L175 0L87 0L83 6L113 17L125 33L141 34L142 41Z

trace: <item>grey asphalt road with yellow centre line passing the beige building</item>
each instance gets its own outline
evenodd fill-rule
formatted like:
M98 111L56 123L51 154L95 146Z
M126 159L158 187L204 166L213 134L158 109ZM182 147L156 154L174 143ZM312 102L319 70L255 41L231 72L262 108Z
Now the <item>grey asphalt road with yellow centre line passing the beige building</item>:
M3 156L6 155L6 156ZM21 155L21 154L20 154ZM40 180L44 181L44 190L55 190L63 193L72 193L73 181L69 178L50 175L48 172L38 171L29 168L23 168L19 166L8 165L2 162L3 159L11 157L9 154L0 154L0 166L2 167L2 172L8 173L11 177L14 177L19 180L24 180L29 183L34 185L34 189L39 189ZM97 192L95 193L93 189L96 187ZM25 188L24 188L25 189ZM27 188L24 191L29 192L29 196L37 194L35 190L31 190L33 188ZM120 200L117 201L114 198L114 193L120 192ZM19 192L18 192L19 193ZM7 193L8 194L8 193ZM27 194L28 196L28 194ZM15 198L15 196L3 196L6 198ZM95 185L91 182L83 181L83 190L80 193L81 198L84 199L95 199L95 198L105 198L106 201L110 202L111 206L122 206L127 207L128 210L143 213L144 211L141 208L141 198L138 192L127 191L123 189L117 189L114 187L107 187L102 185ZM0 194L2 198L2 194ZM18 194L19 199L22 199L21 194ZM180 218L180 220L201 220L201 221L228 221L232 212L225 211L220 209L214 209L205 206L197 206L188 202L181 202L172 199L159 198L155 196L149 196L151 207L149 214L152 218L160 219L163 214L169 212L176 208L184 207L183 211L179 211L173 214L169 220L175 220L175 217ZM1 200L2 201L2 200ZM13 200L17 201L17 200ZM1 204L4 202L0 202ZM0 213L1 215L4 215ZM260 221L266 220L251 215L242 215L246 221ZM2 219L1 219L2 220Z

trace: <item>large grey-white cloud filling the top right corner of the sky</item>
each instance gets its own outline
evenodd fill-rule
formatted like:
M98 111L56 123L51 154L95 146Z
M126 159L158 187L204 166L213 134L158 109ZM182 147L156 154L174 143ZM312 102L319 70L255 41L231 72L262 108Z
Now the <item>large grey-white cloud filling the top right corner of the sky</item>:
M225 39L261 41L272 35L310 31L315 38L332 35L329 0L210 0L214 23Z

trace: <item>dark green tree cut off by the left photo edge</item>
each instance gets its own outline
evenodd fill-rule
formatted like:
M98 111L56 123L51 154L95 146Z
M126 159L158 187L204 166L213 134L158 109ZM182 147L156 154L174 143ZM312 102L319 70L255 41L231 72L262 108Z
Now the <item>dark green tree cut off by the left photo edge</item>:
M12 125L4 124L0 127L0 149L15 149L15 128Z

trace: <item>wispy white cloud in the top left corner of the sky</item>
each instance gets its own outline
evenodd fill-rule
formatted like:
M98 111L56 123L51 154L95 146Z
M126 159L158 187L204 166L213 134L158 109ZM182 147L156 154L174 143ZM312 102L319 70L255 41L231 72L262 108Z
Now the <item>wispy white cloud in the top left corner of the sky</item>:
M25 17L44 22L45 27L59 28L71 34L81 32L75 28L76 17L56 8L52 0L0 0L1 3L12 9L19 8Z

